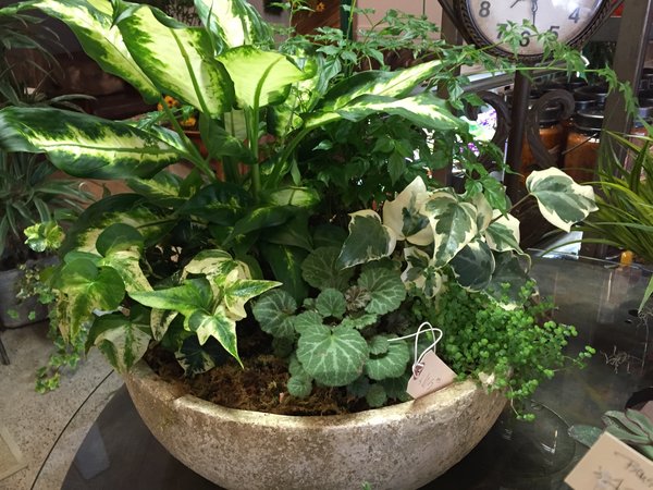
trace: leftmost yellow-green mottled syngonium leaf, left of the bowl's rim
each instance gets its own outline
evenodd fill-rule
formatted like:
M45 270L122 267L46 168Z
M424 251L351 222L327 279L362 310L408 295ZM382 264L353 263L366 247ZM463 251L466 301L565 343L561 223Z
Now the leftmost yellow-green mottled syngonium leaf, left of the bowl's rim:
M53 286L66 296L65 310L59 311L59 329L64 339L74 339L96 309L116 309L125 295L120 274L111 267L98 268L93 260L77 258L57 272Z

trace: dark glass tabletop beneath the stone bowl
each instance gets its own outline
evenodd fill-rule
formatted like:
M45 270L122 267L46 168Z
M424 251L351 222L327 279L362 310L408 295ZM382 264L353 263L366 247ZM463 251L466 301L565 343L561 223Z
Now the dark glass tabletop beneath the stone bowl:
M423 487L433 490L549 490L586 449L567 436L574 424L601 425L608 409L624 409L631 395L653 385L649 327L637 307L651 273L603 261L541 259L533 262L541 294L554 319L575 324L569 348L592 345L580 369L563 370L530 402L537 418L518 421L509 405L488 436L459 464ZM126 390L109 402L82 443L63 489L215 489L172 457L150 434ZM246 490L246 489L244 489Z

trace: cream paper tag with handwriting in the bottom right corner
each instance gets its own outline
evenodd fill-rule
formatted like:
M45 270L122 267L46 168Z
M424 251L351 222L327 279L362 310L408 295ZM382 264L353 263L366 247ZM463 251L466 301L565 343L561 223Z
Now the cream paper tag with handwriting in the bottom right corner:
M653 462L603 432L565 478L574 490L653 489Z

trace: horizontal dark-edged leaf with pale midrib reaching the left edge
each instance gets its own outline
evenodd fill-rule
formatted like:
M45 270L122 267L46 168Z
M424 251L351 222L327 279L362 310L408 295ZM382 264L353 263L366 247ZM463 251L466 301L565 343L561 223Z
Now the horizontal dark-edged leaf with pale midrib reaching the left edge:
M149 177L183 158L124 122L52 108L0 110L0 147L45 152L65 173L91 179Z

